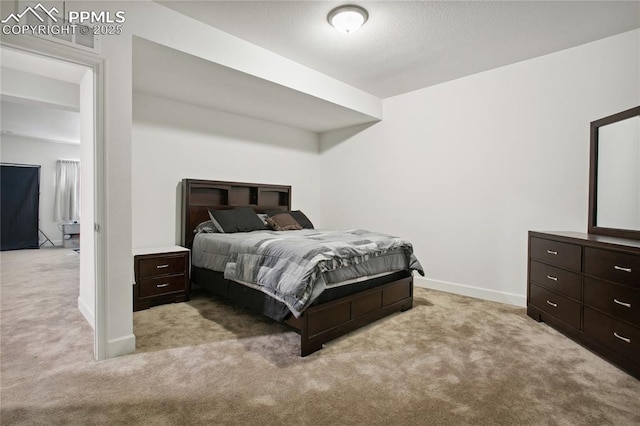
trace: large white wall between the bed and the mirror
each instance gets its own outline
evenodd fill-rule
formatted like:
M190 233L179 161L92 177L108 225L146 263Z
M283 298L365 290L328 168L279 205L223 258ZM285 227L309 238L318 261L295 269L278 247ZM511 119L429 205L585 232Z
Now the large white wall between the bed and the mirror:
M428 285L525 304L528 230L586 232L589 123L638 105L640 30L384 102L321 138L326 224L409 238Z

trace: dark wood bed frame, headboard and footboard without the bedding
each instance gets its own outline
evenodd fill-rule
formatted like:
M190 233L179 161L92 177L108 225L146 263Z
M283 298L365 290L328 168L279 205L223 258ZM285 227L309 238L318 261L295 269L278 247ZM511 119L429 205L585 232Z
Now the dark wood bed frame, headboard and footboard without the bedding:
M182 180L182 245L193 245L193 230L209 220L210 209L251 207L256 213L291 210L291 187L210 180ZM193 274L192 274L193 275ZM336 337L413 306L413 277L410 271L355 294L313 305L300 318L284 323L300 334L300 354L307 356ZM192 278L193 279L193 278ZM377 279L380 282L380 279ZM202 284L197 283L196 284Z

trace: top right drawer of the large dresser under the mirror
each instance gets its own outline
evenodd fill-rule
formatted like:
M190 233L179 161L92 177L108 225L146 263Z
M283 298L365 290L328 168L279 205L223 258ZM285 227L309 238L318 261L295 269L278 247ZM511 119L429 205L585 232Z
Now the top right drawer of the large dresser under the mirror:
M640 288L640 256L585 248L585 274Z

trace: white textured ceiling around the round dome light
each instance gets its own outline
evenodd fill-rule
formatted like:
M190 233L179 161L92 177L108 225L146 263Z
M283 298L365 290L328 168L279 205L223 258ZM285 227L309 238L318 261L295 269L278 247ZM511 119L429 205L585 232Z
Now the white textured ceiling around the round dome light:
M383 98L640 28L640 1L356 1L353 34L326 20L344 2L160 3Z

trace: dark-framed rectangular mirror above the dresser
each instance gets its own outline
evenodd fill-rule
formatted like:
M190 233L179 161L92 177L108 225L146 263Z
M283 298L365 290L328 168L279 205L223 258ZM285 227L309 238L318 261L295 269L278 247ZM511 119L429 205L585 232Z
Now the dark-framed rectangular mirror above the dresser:
M640 107L591 123L589 233L640 239Z

